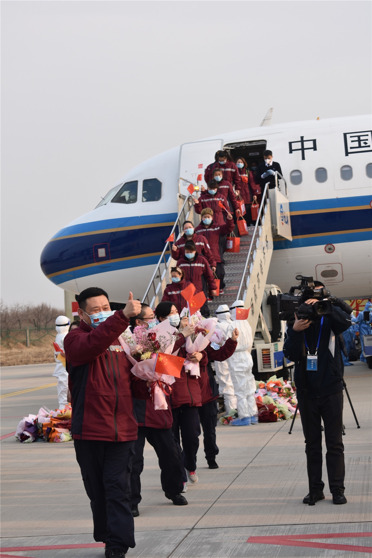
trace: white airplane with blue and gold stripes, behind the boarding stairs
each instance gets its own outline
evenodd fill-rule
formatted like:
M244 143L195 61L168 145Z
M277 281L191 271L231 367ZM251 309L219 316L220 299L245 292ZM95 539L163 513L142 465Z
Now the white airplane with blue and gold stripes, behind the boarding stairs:
M47 242L45 276L72 294L99 286L113 302L125 302L129 290L142 299L187 180L204 175L222 148L249 168L269 149L287 181L292 241L274 239L267 282L285 292L296 275L313 276L343 299L370 297L371 116L271 124L270 114L259 127L183 143L127 172Z

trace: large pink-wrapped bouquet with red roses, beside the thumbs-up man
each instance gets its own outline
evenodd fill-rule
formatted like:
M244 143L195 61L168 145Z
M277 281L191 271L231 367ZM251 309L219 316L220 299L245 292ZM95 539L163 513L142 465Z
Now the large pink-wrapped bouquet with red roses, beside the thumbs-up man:
M133 330L124 331L119 343L133 364L132 374L144 380L151 380L150 393L156 410L168 408L166 395L170 395L173 376L155 372L157 353L172 354L177 340L177 330L168 320L162 321L151 330L145 326L137 326Z

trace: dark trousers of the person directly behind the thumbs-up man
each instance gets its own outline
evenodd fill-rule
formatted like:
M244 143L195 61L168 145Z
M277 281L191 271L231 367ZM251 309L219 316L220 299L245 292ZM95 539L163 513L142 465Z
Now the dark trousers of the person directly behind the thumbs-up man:
M134 442L134 456L131 475L132 504L141 502L141 473L143 471L144 441L152 445L158 456L160 481L164 492L180 494L183 490L183 466L181 448L175 440L171 428L151 428L138 426L137 440Z

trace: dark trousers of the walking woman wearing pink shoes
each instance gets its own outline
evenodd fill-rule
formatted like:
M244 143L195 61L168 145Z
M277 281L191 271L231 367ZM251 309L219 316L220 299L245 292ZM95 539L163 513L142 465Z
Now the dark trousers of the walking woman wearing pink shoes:
M198 408L181 405L181 407L172 409L173 434L178 444L181 445L182 440L182 460L185 469L188 471L195 471L196 469L196 454L199 449L199 436L201 434Z

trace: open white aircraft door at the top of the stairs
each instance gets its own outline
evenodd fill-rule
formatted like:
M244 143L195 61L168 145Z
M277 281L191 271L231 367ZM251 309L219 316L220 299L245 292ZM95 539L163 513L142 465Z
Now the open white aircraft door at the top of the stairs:
M178 176L199 184L206 186L204 181L204 171L206 167L214 162L214 154L219 149L222 149L223 140L205 140L192 143L183 143L180 152L180 167ZM201 175L201 180L197 177ZM187 195L187 186L189 182L180 180L180 194Z

